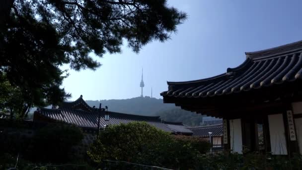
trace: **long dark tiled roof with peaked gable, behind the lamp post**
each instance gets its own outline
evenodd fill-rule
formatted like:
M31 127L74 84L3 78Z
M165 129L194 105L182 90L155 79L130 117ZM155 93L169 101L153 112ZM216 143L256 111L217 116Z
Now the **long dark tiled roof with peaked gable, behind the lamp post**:
M159 116L141 116L108 111L110 118L105 121L103 113L98 108L90 107L82 98L82 95L73 102L63 102L59 107L38 108L34 112L33 121L56 122L63 121L75 124L87 131L96 131L98 127L98 116L100 114L100 128L106 125L118 125L129 122L147 122L148 124L170 132L175 135L192 135L192 131L185 128L181 122L165 122Z

